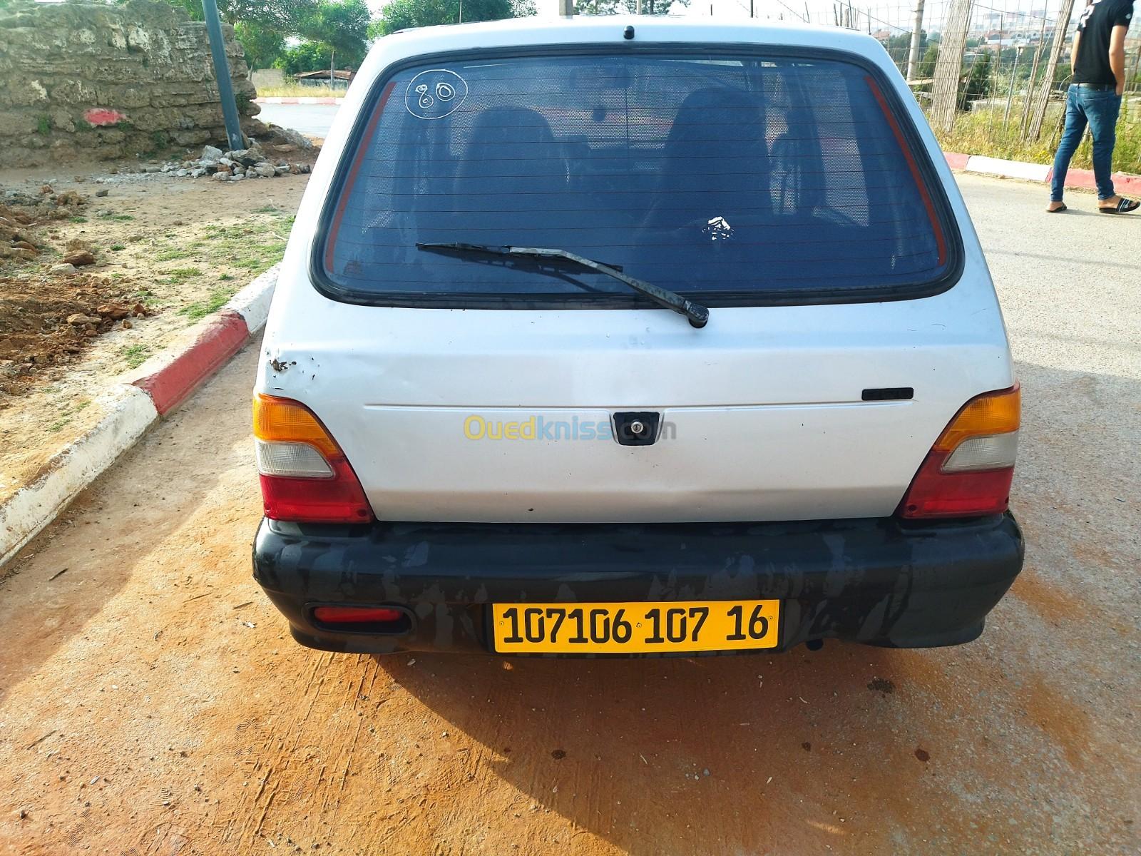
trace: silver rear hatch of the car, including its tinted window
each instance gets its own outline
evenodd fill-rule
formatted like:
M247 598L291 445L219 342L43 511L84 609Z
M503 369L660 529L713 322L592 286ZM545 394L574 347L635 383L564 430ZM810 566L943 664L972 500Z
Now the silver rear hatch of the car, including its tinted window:
M318 415L382 519L890 515L960 407L1012 382L962 203L897 102L850 57L771 49L402 67L304 247L316 288L285 275L259 389ZM572 249L711 318L428 241ZM631 413L653 443L617 442Z

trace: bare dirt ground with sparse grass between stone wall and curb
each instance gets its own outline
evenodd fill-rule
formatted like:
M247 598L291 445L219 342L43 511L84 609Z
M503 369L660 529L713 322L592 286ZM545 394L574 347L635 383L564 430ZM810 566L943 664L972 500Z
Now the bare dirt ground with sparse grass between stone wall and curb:
M0 171L0 188L23 199L80 200L57 218L17 208L39 215L21 228L41 250L0 259L0 498L103 417L99 394L116 375L280 259L308 180L219 183L112 169ZM95 263L52 273L78 247ZM76 315L91 323L68 323Z

